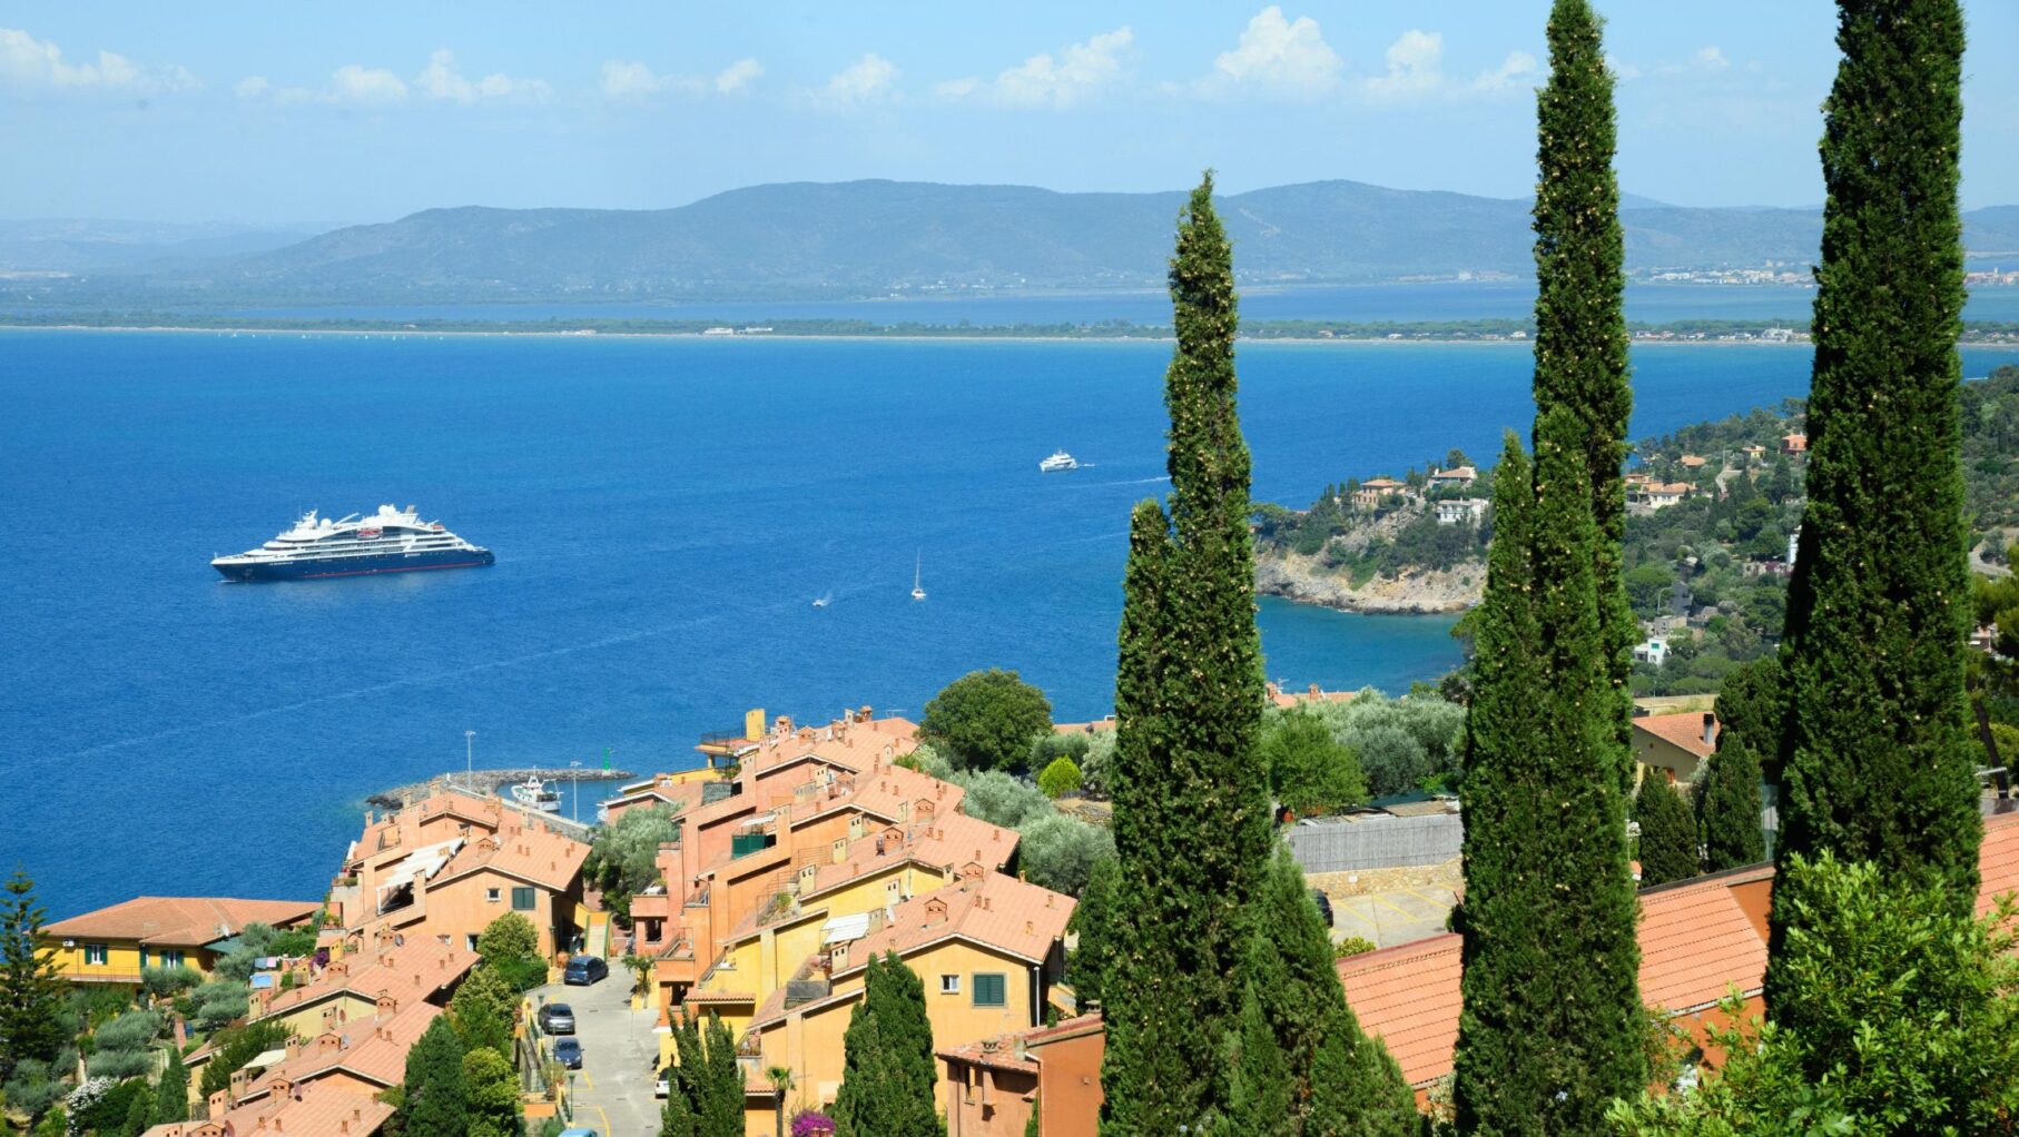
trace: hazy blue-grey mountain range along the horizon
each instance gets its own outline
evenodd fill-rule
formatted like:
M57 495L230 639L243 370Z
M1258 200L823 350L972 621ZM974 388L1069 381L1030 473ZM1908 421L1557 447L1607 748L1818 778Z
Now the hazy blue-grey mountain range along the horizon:
M672 210L424 210L299 234L0 222L0 295L46 303L474 303L1161 287L1185 196L793 182ZM1310 182L1219 200L1244 283L1524 279L1528 202ZM1819 210L1627 196L1629 271L1807 265ZM36 224L42 228L38 230ZM55 226L55 228L52 228ZM2019 256L2019 206L1964 214Z

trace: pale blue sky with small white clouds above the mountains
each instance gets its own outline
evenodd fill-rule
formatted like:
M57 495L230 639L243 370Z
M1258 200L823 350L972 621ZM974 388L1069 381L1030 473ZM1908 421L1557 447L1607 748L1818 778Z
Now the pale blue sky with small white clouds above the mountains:
M1809 206L1827 0L1601 0L1619 178ZM0 4L0 218L668 208L894 178L1526 196L1547 0ZM2019 202L2019 4L1967 4L1967 208ZM1997 46L2007 48L2005 57Z

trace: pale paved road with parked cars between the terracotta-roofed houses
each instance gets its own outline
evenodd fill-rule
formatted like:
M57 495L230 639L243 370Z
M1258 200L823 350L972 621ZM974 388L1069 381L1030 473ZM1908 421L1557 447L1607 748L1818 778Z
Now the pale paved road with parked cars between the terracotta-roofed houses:
M575 1125L604 1137L652 1137L658 1133L658 1099L652 1097L652 1062L658 1038L652 1012L632 1010L626 973L592 988L539 988L551 1004L575 1008L575 1038L581 1040L581 1068L575 1070Z

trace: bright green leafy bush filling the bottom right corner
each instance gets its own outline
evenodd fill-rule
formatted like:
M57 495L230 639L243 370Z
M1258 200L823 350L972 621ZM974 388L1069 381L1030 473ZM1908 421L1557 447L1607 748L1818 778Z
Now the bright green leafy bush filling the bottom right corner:
M1775 1022L1716 1030L1722 1068L1688 1095L1613 1109L1625 1137L2009 1133L2019 1115L2013 909L1983 921L1942 887L1906 887L1827 850L1783 862L1799 915L1775 967ZM1744 1022L1734 998L1730 1022Z

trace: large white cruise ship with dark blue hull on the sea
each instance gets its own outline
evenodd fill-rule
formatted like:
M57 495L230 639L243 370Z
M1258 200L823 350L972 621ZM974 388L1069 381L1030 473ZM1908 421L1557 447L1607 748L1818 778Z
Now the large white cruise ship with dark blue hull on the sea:
M351 513L341 521L317 517L311 509L273 541L210 567L224 580L307 580L323 576L369 576L436 567L479 567L497 557L442 527L422 521L414 507L380 505L371 517Z

